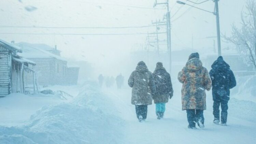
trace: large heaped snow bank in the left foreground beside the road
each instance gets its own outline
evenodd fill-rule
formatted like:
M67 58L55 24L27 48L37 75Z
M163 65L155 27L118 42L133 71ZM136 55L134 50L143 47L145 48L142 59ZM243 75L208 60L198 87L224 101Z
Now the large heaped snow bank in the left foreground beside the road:
M91 85L81 91L69 103L42 107L25 126L0 126L0 143L122 143L123 121L112 102Z

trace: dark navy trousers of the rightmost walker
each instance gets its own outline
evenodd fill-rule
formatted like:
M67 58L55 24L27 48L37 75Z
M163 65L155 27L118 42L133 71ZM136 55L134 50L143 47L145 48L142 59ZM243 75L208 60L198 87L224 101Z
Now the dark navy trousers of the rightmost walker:
M228 117L228 101L227 100L215 100L213 102L213 115L215 119L219 120L219 105L221 105L221 123L227 123Z

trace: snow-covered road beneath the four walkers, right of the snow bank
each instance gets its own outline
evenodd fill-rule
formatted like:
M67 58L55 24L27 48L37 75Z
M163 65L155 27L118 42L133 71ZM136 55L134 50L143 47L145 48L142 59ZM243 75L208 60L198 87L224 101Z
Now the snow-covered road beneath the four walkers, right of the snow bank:
M126 144L255 144L256 123L245 120L250 116L245 110L238 111L245 119L228 116L228 126L212 123L212 99L210 92L207 97L208 109L204 111L205 128L191 130L187 128L186 112L181 111L180 84L175 86L174 97L166 105L165 118L156 119L155 105L148 106L148 118L139 123L135 107L130 104L131 90L104 90L114 101L120 116L125 120ZM174 90L175 90L174 89ZM241 103L243 104L243 103ZM239 105L237 105L239 106ZM232 107L230 107L232 109ZM232 111L232 110L230 110ZM255 113L254 113L254 117Z

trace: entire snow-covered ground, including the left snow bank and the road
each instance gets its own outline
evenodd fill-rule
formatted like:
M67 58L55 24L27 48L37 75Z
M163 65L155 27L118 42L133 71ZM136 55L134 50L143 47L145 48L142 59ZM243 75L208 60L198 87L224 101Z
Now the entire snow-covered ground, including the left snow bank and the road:
M138 122L135 107L130 104L130 88L100 89L94 83L51 87L70 93L74 96L71 100L12 94L0 99L0 143L255 144L256 103L240 99L242 90L250 91L241 89L245 79L249 80L238 78L238 90L231 91L228 126L212 123L210 91L205 128L197 130L187 128L186 112L181 111L181 84L175 80L165 118L156 119L153 104L148 106L148 118L143 123Z

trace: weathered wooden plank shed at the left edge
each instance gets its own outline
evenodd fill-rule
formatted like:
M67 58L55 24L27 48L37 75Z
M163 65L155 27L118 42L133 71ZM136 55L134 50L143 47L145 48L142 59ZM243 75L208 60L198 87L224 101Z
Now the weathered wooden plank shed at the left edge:
M31 80L35 90L35 72L29 66L35 66L35 62L20 57L20 53L20 47L0 40L0 97L14 92L25 93L26 73L32 73Z

